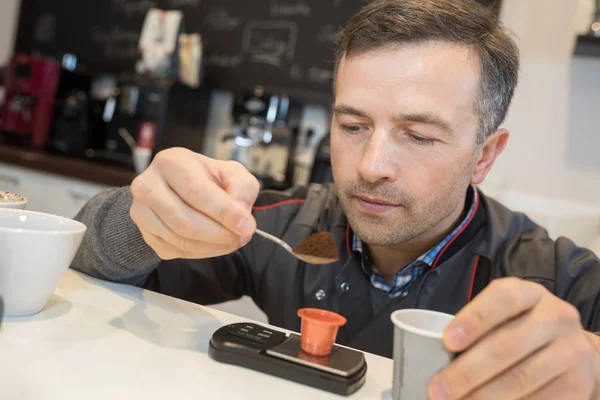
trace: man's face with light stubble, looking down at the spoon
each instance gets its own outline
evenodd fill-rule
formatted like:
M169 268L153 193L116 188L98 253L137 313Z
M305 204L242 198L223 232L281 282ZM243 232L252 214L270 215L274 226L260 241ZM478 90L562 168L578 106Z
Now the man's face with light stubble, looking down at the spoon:
M363 241L405 243L462 211L475 164L478 79L475 53L443 42L342 60L331 162Z

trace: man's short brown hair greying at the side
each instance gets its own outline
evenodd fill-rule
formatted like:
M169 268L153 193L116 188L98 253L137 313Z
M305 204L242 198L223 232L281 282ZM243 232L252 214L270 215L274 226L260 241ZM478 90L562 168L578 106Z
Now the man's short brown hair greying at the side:
M404 44L448 41L470 47L480 59L477 144L506 118L519 75L519 49L494 10L474 0L375 0L342 29L336 75L341 60L371 50Z

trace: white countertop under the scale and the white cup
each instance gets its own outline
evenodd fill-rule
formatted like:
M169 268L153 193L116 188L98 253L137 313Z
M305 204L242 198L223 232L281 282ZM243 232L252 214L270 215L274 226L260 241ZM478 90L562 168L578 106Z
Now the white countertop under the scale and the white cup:
M242 318L69 270L45 309L0 329L0 398L341 399L221 364L207 354L220 326ZM391 398L392 361L366 354L350 398Z

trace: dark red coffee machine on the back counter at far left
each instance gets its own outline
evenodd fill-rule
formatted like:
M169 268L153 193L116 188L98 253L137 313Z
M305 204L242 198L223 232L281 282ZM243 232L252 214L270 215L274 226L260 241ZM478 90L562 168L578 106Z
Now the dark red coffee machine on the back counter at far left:
M6 69L0 129L44 147L50 134L60 64L40 56L15 54Z

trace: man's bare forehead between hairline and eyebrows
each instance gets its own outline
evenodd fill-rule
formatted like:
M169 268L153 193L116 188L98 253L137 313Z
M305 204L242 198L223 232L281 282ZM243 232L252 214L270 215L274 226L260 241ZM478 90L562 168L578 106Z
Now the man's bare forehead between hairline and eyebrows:
M428 42L344 57L335 94L345 102L377 96L390 102L421 98L464 107L472 106L479 88L479 62L470 49Z

